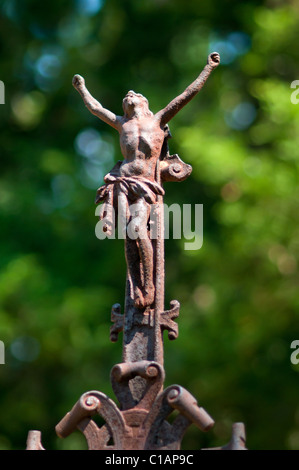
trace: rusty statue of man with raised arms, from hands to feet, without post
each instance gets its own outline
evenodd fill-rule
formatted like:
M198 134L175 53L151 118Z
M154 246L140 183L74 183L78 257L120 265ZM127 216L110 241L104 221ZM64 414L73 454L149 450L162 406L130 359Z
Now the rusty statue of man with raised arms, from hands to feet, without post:
M155 302L155 291L160 293L160 286L155 285L154 247L147 234L149 205L157 202L159 196L161 201L164 195L162 179L180 180L191 172L191 167L183 164L177 156L169 157L167 124L202 89L219 62L219 54L210 54L198 78L155 114L150 111L143 95L130 90L123 99L124 115L117 116L93 98L80 75L73 79L73 85L89 111L119 132L124 160L105 176L105 184L98 189L96 202L103 203L101 217L107 219L106 230L113 207L125 214L136 233L135 239L126 237L125 243L130 296L135 308L151 306ZM159 160L162 170L157 172ZM133 217L129 215L132 204L138 206L138 214Z

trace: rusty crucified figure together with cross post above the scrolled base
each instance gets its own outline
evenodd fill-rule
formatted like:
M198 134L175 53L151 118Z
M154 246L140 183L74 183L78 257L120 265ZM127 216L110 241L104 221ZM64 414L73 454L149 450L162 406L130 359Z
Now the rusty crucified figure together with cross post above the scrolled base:
M124 157L105 176L96 197L96 203L102 203L104 232L115 228L111 214L122 214L125 220L126 300L123 315L119 305L112 307L110 331L112 341L123 331L124 362L153 360L163 365L163 331L168 330L170 339L178 335L173 321L178 316L178 302L174 301L171 310L164 308L163 183L183 181L192 167L177 154L170 155L168 122L201 90L219 61L219 54L210 54L198 78L156 114L149 110L144 96L130 90L123 100L124 115L116 116L90 95L82 77L76 75L73 80L87 108L119 132ZM154 238L148 227L150 211L155 220ZM135 237L128 233L128 226ZM138 396L141 381L133 381L132 387L134 383Z

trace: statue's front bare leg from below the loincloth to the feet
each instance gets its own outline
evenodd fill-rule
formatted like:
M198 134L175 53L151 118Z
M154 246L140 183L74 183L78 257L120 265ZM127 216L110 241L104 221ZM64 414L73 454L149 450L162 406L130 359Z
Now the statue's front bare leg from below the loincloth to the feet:
M141 284L135 286L134 300L136 307L143 308L151 305L155 297L155 287L153 283L153 246L148 236L147 229L150 206L143 198L140 198L134 202L130 210L132 218L129 224L128 238L130 238L130 235L131 238L135 238L143 271L143 286L142 288Z

